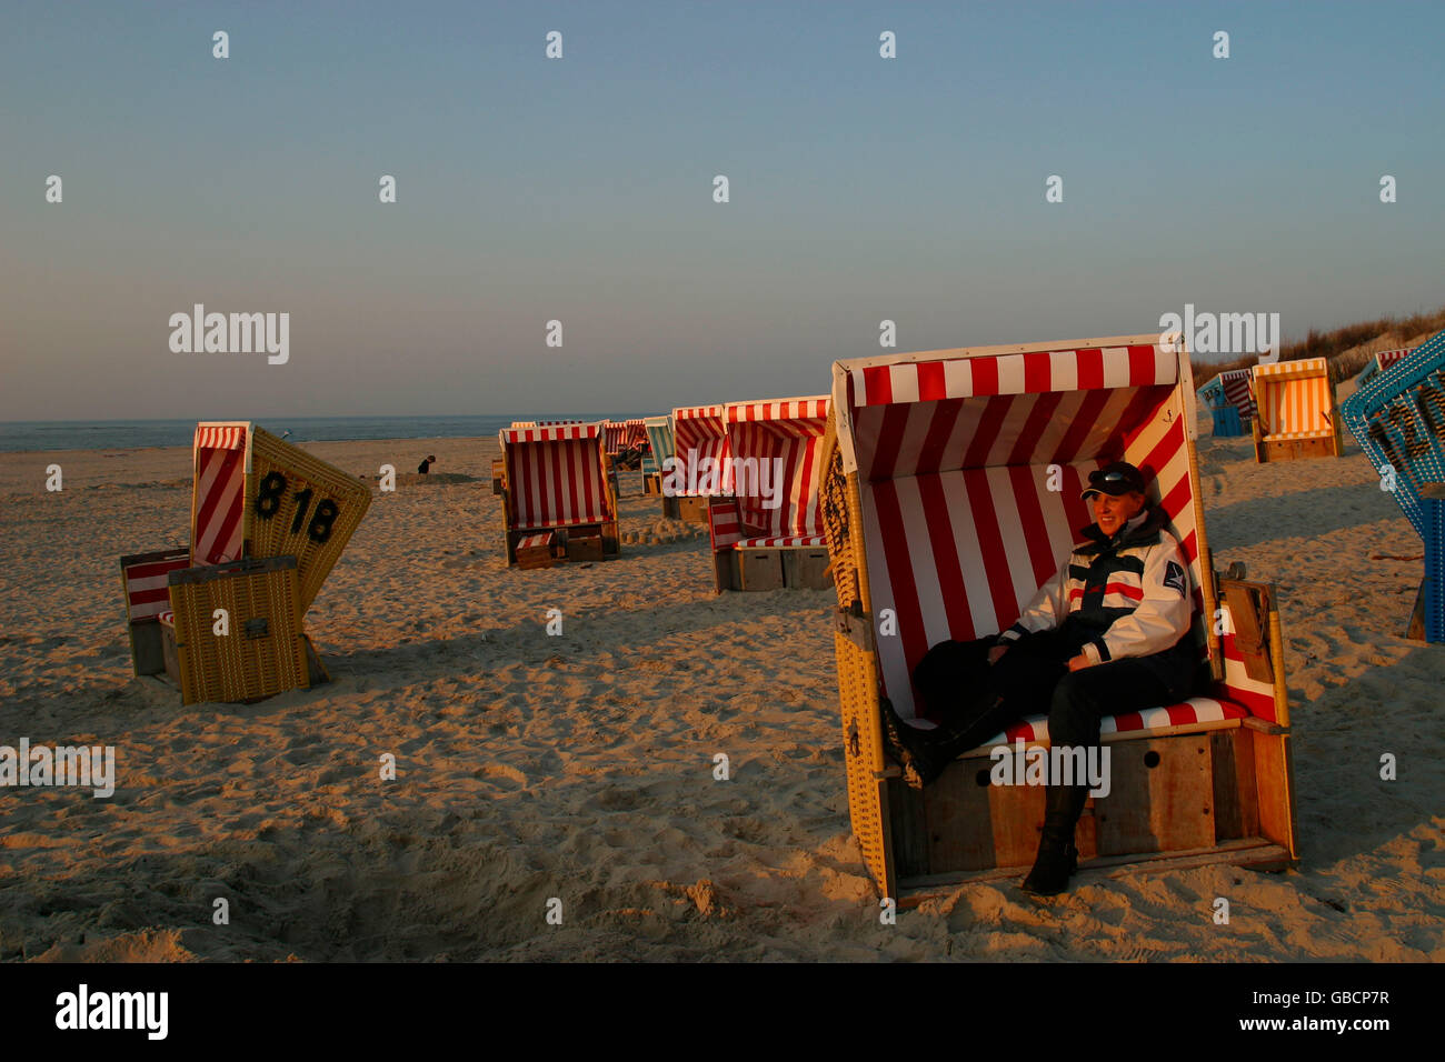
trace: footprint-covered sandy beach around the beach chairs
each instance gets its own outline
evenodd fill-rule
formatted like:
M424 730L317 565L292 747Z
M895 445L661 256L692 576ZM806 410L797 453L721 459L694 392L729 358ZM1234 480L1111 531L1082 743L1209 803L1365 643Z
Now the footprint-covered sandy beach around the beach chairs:
M185 542L189 451L0 454L0 743L113 744L118 774L0 790L0 958L1445 959L1445 655L1402 637L1422 543L1353 441L1257 465L1199 439L1215 565L1280 591L1299 870L978 884L892 926L848 824L831 592L717 597L696 538L509 571L494 439L305 448L448 475L377 494L312 607L334 682L188 708L130 675L117 558ZM656 524L621 483L623 530Z

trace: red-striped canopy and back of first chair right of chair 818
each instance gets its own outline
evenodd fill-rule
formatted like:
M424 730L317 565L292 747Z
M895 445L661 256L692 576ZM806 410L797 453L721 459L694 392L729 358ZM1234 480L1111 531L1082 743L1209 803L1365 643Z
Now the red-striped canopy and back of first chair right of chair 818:
M503 428L507 530L616 520L603 436L601 422Z

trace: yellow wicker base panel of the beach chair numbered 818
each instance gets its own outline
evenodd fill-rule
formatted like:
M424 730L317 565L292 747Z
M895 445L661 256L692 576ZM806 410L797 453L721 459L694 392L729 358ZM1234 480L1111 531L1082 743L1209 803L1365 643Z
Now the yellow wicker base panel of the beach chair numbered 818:
M298 587L292 558L175 574L171 607L184 704L257 701L309 686ZM227 611L228 634L215 633L217 608Z

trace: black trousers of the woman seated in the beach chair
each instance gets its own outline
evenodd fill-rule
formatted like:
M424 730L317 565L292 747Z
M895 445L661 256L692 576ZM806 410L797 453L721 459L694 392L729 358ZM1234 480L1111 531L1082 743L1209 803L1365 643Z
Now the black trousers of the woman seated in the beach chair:
M941 642L913 669L923 711L939 718L957 751L975 748L1026 715L1049 715L1049 744L1090 747L1105 715L1172 704L1170 691L1144 657L1123 657L1071 672L1085 634L1062 629L1027 634L997 663L994 639ZM957 754L955 751L955 754Z

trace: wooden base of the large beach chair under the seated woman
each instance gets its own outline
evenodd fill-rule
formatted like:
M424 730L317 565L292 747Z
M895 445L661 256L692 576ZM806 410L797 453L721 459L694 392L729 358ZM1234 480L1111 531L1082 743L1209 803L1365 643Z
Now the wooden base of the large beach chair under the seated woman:
M1287 850L1270 837L1282 816L1287 828L1289 809L1274 798L1285 743L1287 734L1243 725L1165 737L1107 735L1110 792L1090 798L1075 829L1081 871L1165 865L1169 857L1290 865ZM896 769L887 772L900 896L1022 874L1033 864L1045 790L991 785L994 767L988 756L957 760L922 792L910 789Z

